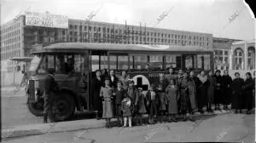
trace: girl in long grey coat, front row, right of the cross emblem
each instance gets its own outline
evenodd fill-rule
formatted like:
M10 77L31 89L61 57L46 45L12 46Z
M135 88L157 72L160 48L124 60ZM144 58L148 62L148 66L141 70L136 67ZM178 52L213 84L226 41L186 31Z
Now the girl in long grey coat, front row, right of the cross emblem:
M177 122L176 114L179 94L173 79L170 80L170 84L166 87L166 96L168 100L168 122Z

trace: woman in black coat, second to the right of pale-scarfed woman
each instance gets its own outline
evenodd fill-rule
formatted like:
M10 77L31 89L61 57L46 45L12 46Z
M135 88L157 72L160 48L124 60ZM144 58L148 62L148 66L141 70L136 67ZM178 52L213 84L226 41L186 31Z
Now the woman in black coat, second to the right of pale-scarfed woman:
M215 80L216 80L216 87L215 87L215 93L214 93L214 104L215 104L215 110L220 110L219 104L222 98L222 77L220 75L220 71L217 70L215 72Z

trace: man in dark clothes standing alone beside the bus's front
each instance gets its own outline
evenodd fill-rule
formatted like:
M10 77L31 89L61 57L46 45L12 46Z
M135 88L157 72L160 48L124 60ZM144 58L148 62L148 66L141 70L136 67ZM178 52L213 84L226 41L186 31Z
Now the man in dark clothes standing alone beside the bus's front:
M44 123L47 123L47 118L49 117L50 122L54 122L54 112L53 112L53 100L57 91L57 83L55 82L55 77L53 73L55 69L48 69L48 75L44 82Z

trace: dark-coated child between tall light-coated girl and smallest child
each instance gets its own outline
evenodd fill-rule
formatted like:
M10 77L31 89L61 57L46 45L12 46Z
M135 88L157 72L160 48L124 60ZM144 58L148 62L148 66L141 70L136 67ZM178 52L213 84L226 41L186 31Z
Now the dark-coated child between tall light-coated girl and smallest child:
M123 124L123 116L122 116L122 100L125 98L125 89L122 87L122 82L119 81L117 83L117 88L114 89L114 95L115 95L115 109L116 109L116 116L118 119L119 127L121 127L121 124Z

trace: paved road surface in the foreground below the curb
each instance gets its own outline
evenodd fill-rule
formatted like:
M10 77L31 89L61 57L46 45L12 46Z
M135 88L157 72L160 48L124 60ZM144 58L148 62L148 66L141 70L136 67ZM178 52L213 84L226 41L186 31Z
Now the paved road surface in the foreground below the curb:
M49 133L7 140L8 143L113 143L163 141L243 141L255 140L254 115L226 114L203 120L159 123L133 128L89 129L66 133Z

